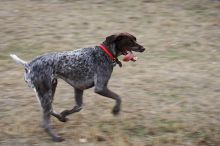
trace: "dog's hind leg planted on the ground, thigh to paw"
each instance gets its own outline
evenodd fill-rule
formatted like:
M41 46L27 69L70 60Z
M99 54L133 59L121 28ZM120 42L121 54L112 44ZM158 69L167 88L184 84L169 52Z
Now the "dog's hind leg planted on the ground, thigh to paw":
M54 141L61 142L64 139L58 136L51 128L50 117L52 112L53 90L47 82L40 82L35 85L41 107L43 108L43 128Z

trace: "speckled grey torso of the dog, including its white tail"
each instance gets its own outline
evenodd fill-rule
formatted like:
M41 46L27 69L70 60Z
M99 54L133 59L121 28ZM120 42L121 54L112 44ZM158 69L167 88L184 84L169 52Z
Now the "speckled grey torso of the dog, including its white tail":
M83 48L61 53L48 53L26 62L16 55L10 55L16 62L24 65L25 81L34 87L35 82L52 81L61 78L73 87L87 89L94 85L97 68L112 72L111 60L100 48Z

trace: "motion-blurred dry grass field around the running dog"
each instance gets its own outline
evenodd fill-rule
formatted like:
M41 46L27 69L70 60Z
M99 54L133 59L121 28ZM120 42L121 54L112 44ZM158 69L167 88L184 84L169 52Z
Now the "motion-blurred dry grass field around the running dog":
M121 114L111 115L114 101L87 90L83 111L67 123L52 118L66 138L52 142L23 68L9 54L31 60L123 31L148 50L115 67L109 87L123 98ZM0 71L0 145L220 145L218 0L1 0ZM73 89L59 80L54 108L73 105Z

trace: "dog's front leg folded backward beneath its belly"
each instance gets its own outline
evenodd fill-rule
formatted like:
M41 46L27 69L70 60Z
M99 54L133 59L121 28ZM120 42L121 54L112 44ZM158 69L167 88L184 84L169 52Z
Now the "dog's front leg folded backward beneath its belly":
M76 102L76 105L70 110L62 111L60 114L63 118L65 118L67 115L70 115L72 113L79 112L82 109L83 90L80 90L80 89L77 89L77 88L74 88L74 89L75 89L75 102Z

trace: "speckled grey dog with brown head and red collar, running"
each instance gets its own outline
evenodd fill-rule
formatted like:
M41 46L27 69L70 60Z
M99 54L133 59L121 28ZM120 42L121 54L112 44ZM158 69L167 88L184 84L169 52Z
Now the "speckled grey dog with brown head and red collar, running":
M95 86L95 93L116 100L112 113L118 114L121 98L107 88L113 67L116 64L122 65L117 57L132 51L143 52L144 50L145 48L136 42L133 35L119 33L108 36L100 46L45 54L31 62L25 62L13 54L10 56L25 68L25 81L34 89L43 108L43 128L54 141L63 141L64 139L51 129L50 115L65 122L67 115L81 110L83 91L93 86ZM52 108L58 78L75 89L76 101L72 109L64 110L60 114Z

